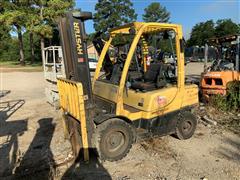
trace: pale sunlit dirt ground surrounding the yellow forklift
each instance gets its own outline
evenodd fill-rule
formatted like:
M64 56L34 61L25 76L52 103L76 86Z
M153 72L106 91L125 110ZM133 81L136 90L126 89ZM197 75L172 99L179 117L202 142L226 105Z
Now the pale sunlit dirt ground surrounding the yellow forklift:
M203 65L186 74L200 77ZM44 94L42 72L2 71L0 179L240 179L240 133L199 123L195 135L138 142L117 162L73 164L60 112ZM240 117L239 117L240 118Z

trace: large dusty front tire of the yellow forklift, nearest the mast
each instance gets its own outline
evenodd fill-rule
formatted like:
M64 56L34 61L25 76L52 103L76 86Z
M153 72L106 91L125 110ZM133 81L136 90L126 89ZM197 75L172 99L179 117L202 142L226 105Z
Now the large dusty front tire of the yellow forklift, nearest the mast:
M135 133L129 123L113 118L97 125L94 139L101 160L117 161L130 151Z

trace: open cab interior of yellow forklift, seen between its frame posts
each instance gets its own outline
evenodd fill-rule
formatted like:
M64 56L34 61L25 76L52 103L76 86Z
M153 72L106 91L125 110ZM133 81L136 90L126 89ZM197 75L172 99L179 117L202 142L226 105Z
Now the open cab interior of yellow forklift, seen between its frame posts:
M175 35L171 29L143 33L127 72L127 88L147 92L176 85ZM134 37L133 30L113 37L106 54L110 58L104 59L98 80L119 85ZM108 59L111 60L111 65L106 67L104 65Z

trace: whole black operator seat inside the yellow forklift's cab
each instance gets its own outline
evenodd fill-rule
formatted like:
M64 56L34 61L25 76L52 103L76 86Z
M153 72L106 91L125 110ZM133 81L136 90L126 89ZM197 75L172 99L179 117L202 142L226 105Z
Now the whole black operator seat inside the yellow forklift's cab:
M131 89L140 91L151 91L162 88L166 85L164 76L164 64L151 63L143 77L135 80L131 84Z

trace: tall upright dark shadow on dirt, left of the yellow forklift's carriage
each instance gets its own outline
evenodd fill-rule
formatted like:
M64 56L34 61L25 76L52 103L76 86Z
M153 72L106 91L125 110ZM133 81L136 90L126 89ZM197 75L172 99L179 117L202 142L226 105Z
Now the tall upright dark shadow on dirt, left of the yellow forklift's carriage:
M15 179L51 179L55 162L50 148L55 130L52 118L38 120L39 128L15 169Z

